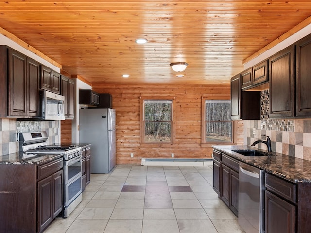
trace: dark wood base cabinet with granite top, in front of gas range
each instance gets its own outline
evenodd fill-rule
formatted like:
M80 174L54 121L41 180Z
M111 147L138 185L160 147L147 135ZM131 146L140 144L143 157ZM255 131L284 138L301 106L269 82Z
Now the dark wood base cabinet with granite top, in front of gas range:
M1 233L41 233L63 209L62 155L22 156L0 156Z

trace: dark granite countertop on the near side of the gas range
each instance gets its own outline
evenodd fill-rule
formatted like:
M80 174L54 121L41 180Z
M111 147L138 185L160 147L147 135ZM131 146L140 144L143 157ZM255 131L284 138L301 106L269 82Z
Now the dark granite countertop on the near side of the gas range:
M32 156L35 155L35 156ZM29 157L32 156L32 157ZM26 154L16 152L0 156L0 164L44 164L52 160L62 158L64 154Z

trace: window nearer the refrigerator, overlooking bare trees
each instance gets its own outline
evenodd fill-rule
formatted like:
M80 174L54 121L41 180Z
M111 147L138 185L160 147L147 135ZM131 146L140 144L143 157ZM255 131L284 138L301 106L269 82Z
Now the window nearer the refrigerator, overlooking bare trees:
M142 142L173 142L173 100L143 99Z

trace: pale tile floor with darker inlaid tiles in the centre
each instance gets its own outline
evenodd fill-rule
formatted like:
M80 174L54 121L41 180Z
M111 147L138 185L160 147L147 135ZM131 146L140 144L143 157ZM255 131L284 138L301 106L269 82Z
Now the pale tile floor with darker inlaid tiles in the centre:
M44 233L244 233L212 188L212 166L118 165Z

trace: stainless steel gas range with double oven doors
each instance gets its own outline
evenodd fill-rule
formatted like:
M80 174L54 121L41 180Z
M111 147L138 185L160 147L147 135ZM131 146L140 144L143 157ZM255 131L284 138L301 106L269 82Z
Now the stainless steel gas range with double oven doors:
M64 154L63 217L82 201L82 151L75 145L47 145L46 132L21 133L22 150L29 154Z

